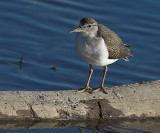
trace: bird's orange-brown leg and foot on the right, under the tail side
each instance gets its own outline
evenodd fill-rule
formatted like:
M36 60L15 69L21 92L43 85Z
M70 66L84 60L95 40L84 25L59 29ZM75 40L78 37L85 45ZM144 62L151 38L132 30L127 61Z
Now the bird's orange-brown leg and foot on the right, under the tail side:
M103 69L103 78L102 78L101 85L99 87L95 88L93 92L101 90L101 91L103 91L104 93L107 94L107 91L103 87L104 79L105 79L105 76L106 76L106 72L107 72L107 66L105 66L104 69Z

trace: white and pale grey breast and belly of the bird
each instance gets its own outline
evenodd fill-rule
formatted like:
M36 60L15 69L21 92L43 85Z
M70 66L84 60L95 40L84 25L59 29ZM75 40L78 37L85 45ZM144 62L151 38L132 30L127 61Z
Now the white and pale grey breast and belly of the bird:
M108 59L109 53L103 38L91 38L78 33L76 49L83 60L95 66L106 66L117 61L117 59Z

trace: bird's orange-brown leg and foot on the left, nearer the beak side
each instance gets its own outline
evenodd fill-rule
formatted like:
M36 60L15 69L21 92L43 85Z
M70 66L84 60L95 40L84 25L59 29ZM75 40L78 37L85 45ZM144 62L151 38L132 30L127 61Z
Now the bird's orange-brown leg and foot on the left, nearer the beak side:
M92 65L89 64L89 76L88 76L88 81L87 81L87 83L86 83L85 88L80 89L79 92L88 91L89 93L92 93L92 91L91 91L92 88L89 87L89 82L90 82L92 73L93 73L93 68L92 68Z

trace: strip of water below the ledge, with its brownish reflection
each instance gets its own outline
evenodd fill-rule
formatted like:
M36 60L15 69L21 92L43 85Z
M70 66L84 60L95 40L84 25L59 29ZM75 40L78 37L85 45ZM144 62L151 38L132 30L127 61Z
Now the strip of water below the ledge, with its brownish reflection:
M87 121L1 121L3 132L73 132L73 133L158 133L160 123L143 120L87 120ZM65 130L64 130L65 128ZM36 130L35 130L36 129Z

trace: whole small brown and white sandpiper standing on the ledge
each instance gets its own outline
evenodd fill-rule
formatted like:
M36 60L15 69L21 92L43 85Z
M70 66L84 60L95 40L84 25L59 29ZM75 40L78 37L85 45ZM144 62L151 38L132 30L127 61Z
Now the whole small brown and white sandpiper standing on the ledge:
M116 62L119 59L128 61L128 56L133 56L133 52L128 49L129 45L123 43L120 37L106 26L97 23L93 18L85 17L80 20L78 28L70 31L78 32L75 45L78 53L83 60L89 63L89 76L86 86L80 92L88 91L92 93L89 87L91 75L93 73L92 65L104 66L103 78L99 87L93 91L103 91L104 79L107 72L107 65Z

